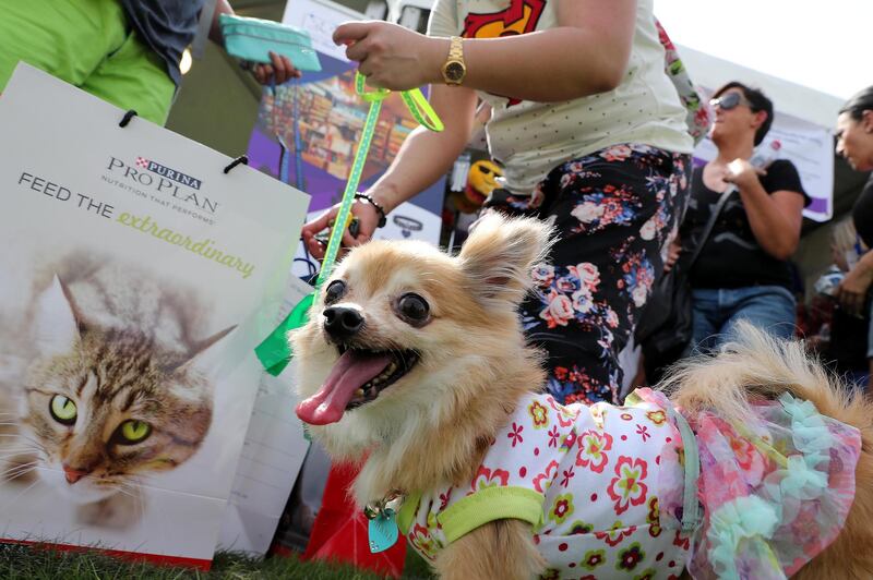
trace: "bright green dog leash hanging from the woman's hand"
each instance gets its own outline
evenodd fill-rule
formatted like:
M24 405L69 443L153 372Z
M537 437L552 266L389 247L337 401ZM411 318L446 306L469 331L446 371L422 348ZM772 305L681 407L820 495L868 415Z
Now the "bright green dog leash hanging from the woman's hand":
M322 283L331 276L334 269L336 254L339 252L343 241L343 232L348 227L351 218L351 205L355 203L355 194L358 192L358 184L361 181L363 165L367 161L367 155L370 153L370 144L373 140L376 121L379 121L379 112L382 110L382 101L391 93L386 88L368 92L366 83L367 80L363 75L356 73L355 90L363 100L370 104L370 110L367 112L367 120L363 123L363 133L358 144L358 150L355 152L355 161L351 165L351 173L346 182L346 190L343 192L343 202L339 204L334 228L327 239L327 251L324 254L321 271L319 271L319 277L315 280L315 290L298 302L288 316L254 349L258 360L264 365L266 372L273 376L278 376L288 366L291 357L294 357L291 346L288 343L288 331L300 328L309 321L309 310L315 302L315 295L318 295ZM400 97L419 124L436 132L444 129L439 116L420 89L403 90ZM340 223L344 227L339 227Z

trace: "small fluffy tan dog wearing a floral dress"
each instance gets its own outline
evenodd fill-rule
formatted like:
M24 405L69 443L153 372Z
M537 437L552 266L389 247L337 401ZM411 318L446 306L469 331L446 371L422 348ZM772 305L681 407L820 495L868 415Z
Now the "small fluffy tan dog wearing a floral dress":
M516 315L549 235L491 215L456 257L371 242L324 285L297 413L357 503L402 498L452 579L873 578L873 406L751 327L669 400L555 403Z

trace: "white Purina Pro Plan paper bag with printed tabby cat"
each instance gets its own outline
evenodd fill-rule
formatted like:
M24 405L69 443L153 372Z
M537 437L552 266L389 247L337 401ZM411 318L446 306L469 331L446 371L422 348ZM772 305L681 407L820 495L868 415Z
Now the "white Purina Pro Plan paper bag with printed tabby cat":
M309 200L122 113L0 96L0 539L207 567Z

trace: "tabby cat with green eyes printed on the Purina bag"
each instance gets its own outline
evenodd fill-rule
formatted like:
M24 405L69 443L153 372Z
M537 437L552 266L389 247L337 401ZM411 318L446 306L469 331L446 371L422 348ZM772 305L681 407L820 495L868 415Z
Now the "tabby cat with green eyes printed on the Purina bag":
M13 352L0 359L0 487L44 486L76 521L130 527L143 482L208 433L213 385L199 360L234 327L206 333L191 292L111 259L40 270L2 346Z

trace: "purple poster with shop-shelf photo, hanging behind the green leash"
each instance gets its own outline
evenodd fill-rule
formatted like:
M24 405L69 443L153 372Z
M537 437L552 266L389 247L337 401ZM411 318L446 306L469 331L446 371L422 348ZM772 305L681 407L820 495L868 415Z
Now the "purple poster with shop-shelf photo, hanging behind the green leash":
M265 90L258 124L249 142L252 167L312 196L310 217L342 200L360 141L369 105L355 93L355 64L344 49L331 39L343 22L363 20L358 12L326 0L290 0L284 24L307 29L319 52L322 71L304 73L299 81ZM397 155L404 140L418 126L399 94L384 100L373 135L360 190L375 182ZM287 148L286 171L282 170L283 142ZM440 240L445 178L407 202L388 216L374 239ZM295 256L294 273L309 276L319 264L303 247Z

